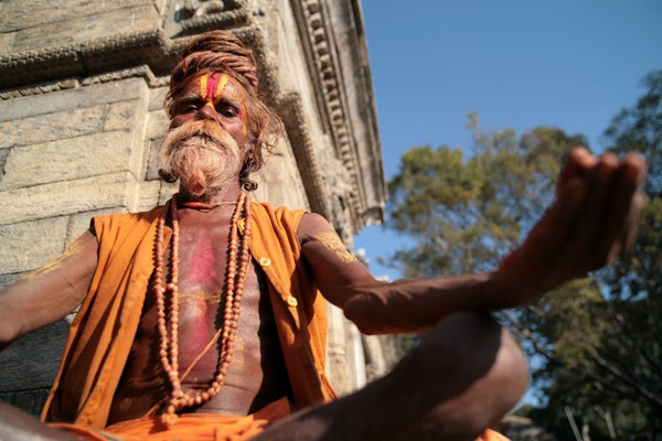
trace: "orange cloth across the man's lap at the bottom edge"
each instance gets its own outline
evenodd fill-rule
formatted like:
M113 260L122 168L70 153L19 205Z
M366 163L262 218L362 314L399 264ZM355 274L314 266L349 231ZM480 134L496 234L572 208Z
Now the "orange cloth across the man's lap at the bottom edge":
M138 418L108 426L104 430L52 422L51 427L87 441L244 441L259 434L265 427L290 413L287 398L271 402L256 413L241 417L233 415L186 413L166 429L159 418Z

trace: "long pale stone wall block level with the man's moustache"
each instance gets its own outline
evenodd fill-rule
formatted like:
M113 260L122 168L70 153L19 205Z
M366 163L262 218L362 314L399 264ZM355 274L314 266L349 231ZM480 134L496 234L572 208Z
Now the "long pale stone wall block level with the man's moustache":
M4 164L0 191L127 170L130 144L130 132L109 131L14 147Z

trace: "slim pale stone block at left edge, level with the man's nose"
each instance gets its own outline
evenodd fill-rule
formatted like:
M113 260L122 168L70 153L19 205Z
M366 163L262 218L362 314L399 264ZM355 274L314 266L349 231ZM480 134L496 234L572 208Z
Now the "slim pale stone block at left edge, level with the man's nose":
M0 149L102 131L106 106L74 108L0 122Z

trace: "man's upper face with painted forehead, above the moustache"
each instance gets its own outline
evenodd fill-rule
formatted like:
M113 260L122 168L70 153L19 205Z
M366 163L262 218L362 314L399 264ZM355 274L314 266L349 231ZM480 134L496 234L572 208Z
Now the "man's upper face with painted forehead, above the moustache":
M192 120L211 120L243 148L247 138L246 99L244 87L229 75L201 75L172 100L170 129Z

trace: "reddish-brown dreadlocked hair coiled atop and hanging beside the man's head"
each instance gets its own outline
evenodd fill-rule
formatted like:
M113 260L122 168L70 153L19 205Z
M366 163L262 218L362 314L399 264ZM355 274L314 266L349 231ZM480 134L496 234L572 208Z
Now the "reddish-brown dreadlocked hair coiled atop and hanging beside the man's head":
M257 189L250 175L263 168L273 153L278 138L284 133L282 121L261 100L257 88L257 63L253 51L227 31L206 32L184 49L182 60L170 76L170 90L166 95L168 115L172 118L171 103L189 84L210 72L223 73L236 79L247 92L247 144L239 184L246 191Z

